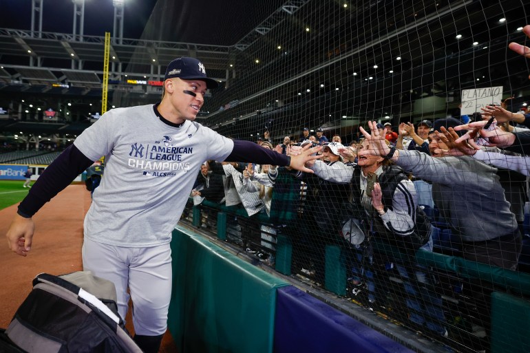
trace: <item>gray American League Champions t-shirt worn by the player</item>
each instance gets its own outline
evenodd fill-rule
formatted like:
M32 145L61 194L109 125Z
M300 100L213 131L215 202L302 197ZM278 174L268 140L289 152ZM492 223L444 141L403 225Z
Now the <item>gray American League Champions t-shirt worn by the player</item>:
M198 122L165 124L153 105L108 111L74 145L91 160L105 156L85 237L125 247L171 242L200 165L233 149L232 140Z

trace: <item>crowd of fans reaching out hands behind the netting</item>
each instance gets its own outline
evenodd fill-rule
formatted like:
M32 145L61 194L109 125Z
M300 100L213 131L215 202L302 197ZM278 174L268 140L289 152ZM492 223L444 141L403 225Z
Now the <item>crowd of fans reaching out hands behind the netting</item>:
M496 120L483 129L491 116ZM413 259L420 248L447 253L437 234L449 232L458 239L449 249L452 255L518 270L530 114L487 106L474 118L465 119L467 124L460 118L402 122L397 132L390 123L369 122L370 131L361 128L363 137L349 145L342 145L339 135L328 140L321 129L313 135L308 128L298 140L284 136L273 145L266 131L257 143L277 153L295 155L306 145L322 145L321 158L306 164L313 173L205 161L191 196L197 204L204 197L242 208L246 217L230 217L240 233L229 241L270 266L277 235L287 235L293 272L318 285L326 283L326 248L338 246L350 295L365 291L370 305L379 300L376 262L394 268L410 298L410 321L447 336L442 297L430 269L375 255L371 239ZM493 144L504 149L488 147ZM431 224L426 212L432 209L445 224ZM294 216L277 215L282 212ZM202 226L215 226L214 219L215 214L203 215Z

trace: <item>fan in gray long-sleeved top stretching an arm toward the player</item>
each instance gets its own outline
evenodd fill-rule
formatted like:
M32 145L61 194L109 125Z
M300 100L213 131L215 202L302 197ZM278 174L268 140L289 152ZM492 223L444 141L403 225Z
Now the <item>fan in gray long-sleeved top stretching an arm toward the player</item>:
M458 120L438 119L434 130L459 125ZM443 157L439 149L447 149L434 133L430 135L432 156L418 151L399 151L384 143L375 122L368 122L371 134L361 128L372 142L363 154L384 156L432 182L434 203L458 233L466 259L515 270L521 251L521 235L515 215L496 175L497 169L470 156Z

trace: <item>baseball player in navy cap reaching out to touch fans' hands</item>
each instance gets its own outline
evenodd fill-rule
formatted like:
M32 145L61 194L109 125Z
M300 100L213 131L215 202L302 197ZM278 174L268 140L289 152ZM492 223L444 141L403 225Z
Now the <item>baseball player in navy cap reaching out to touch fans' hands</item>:
M26 256L32 216L54 195L105 156L105 178L85 217L83 268L114 282L125 319L134 303L134 340L158 352L171 297L171 231L205 160L257 162L311 172L305 162L320 147L285 156L248 141L231 140L194 122L206 89L217 82L195 58L169 63L162 101L107 111L47 167L19 204L6 234L14 253Z

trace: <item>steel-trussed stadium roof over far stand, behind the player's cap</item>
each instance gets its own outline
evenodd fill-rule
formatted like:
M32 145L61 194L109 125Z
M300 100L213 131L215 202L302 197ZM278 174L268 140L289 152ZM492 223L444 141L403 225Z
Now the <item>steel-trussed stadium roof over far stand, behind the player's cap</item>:
M39 37L40 35L40 37ZM105 37L79 36L64 33L0 28L0 47L3 56L16 58L17 65L3 64L0 80L6 85L21 83L56 83L93 87L103 78ZM132 77L149 76L153 81L163 78L165 67L179 56L198 56L209 67L213 78L225 78L231 47L198 45L164 41L124 39L112 43L111 65L131 67L138 72L118 72ZM30 52L28 54L28 51ZM40 65L31 65L38 58ZM20 65L24 61L28 65ZM65 65L70 65L66 68ZM85 67L99 67L86 69ZM9 89L9 87L6 87Z

